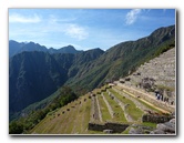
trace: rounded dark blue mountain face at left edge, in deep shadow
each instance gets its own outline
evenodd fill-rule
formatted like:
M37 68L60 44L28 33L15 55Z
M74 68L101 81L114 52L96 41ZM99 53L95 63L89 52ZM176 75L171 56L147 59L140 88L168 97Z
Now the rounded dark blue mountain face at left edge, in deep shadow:
M9 64L10 111L47 98L67 80L67 70L49 53L22 52Z

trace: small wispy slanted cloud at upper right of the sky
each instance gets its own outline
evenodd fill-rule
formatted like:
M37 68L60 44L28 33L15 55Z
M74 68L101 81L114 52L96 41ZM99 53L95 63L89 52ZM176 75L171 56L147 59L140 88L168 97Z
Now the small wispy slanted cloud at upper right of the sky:
M133 24L135 21L136 21L136 19L137 19L137 17L140 16L140 13L141 13L141 9L133 9L133 10L131 10L130 12L127 12L127 14L126 14L126 24Z

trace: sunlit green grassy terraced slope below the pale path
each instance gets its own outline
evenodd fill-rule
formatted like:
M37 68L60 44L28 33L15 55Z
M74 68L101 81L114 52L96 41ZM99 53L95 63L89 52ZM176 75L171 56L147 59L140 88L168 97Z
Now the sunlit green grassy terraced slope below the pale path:
M49 112L29 134L104 134L103 131L90 130L89 124L123 123L146 125L155 130L155 123L142 122L143 114L151 111L167 114L170 111L155 106L142 99L122 92L120 86L99 89L95 94L85 94L68 105ZM113 98L112 98L113 96ZM129 130L129 127L127 127ZM150 132L151 132L150 131ZM124 130L121 134L126 134Z

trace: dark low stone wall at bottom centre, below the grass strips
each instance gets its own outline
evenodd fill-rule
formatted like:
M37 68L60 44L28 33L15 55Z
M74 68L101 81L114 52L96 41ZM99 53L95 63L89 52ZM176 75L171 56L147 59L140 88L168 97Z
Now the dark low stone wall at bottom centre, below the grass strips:
M104 131L104 130L112 130L112 133L121 133L123 132L130 124L122 124L122 123L89 123L88 130L93 130L93 131Z

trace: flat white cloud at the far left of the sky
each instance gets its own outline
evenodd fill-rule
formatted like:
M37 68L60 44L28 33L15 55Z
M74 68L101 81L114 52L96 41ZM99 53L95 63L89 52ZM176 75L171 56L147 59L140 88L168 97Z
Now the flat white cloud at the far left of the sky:
M9 22L14 23L38 23L41 21L41 18L38 14L33 14L32 17L24 17L18 13L13 13L9 16Z

